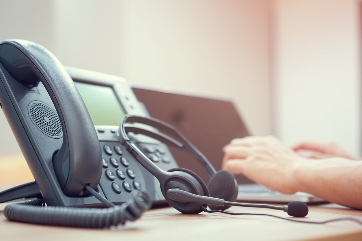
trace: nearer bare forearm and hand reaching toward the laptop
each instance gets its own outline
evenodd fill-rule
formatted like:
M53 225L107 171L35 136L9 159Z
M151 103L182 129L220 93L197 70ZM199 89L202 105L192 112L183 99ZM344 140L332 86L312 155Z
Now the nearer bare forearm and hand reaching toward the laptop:
M362 162L310 159L275 137L234 139L224 147L223 168L284 193L304 191L329 202L362 209Z

